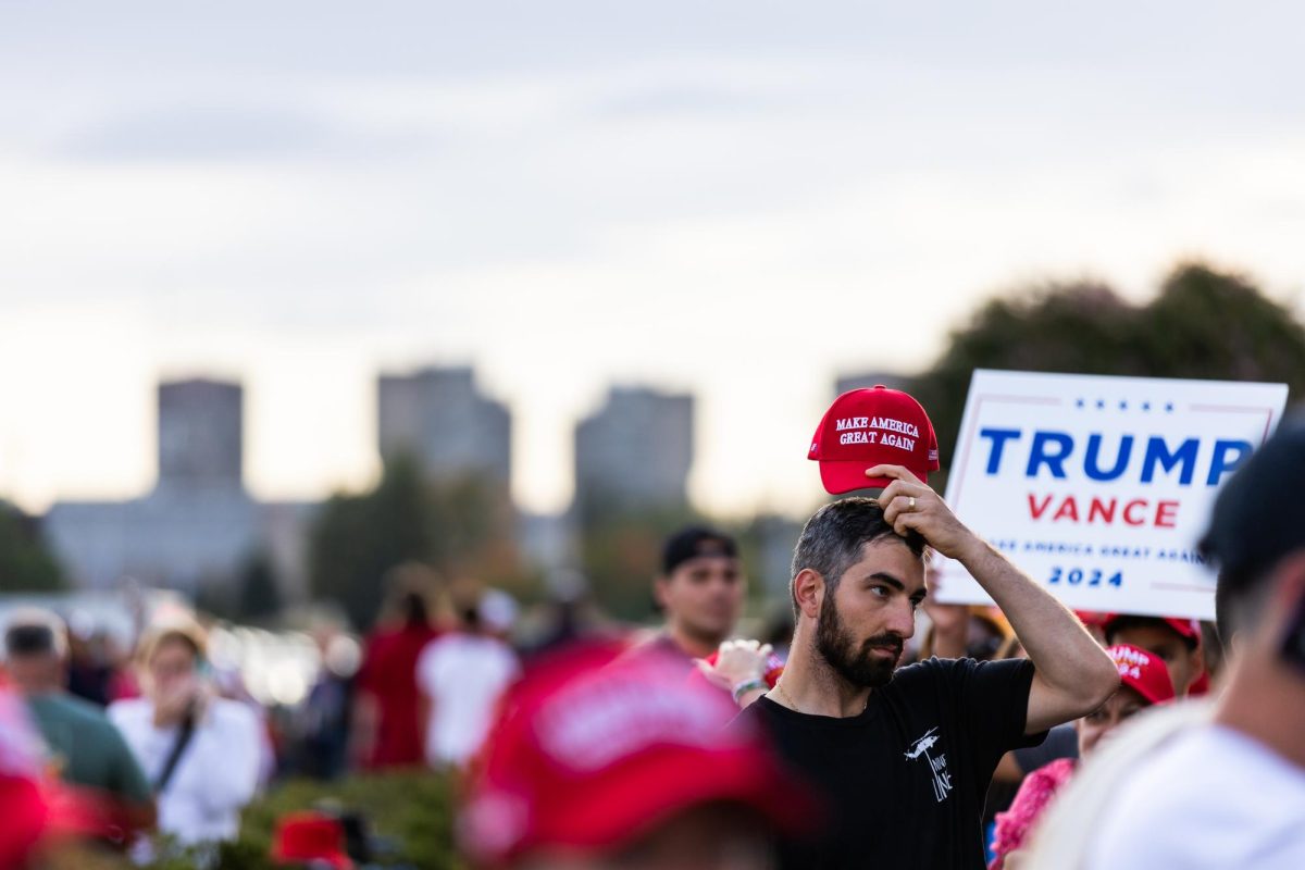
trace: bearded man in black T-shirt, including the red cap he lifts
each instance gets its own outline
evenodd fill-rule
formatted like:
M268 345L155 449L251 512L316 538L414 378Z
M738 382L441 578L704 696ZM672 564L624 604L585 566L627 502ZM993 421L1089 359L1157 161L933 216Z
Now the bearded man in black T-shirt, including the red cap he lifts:
M743 715L829 798L823 836L786 843L782 867L984 866L983 801L1004 753L1087 713L1118 673L1082 623L964 527L927 484L933 427L876 387L839 397L809 455L834 493L793 553L796 630L775 689ZM1010 620L1028 660L929 659L897 669L924 600L925 550L954 558Z

